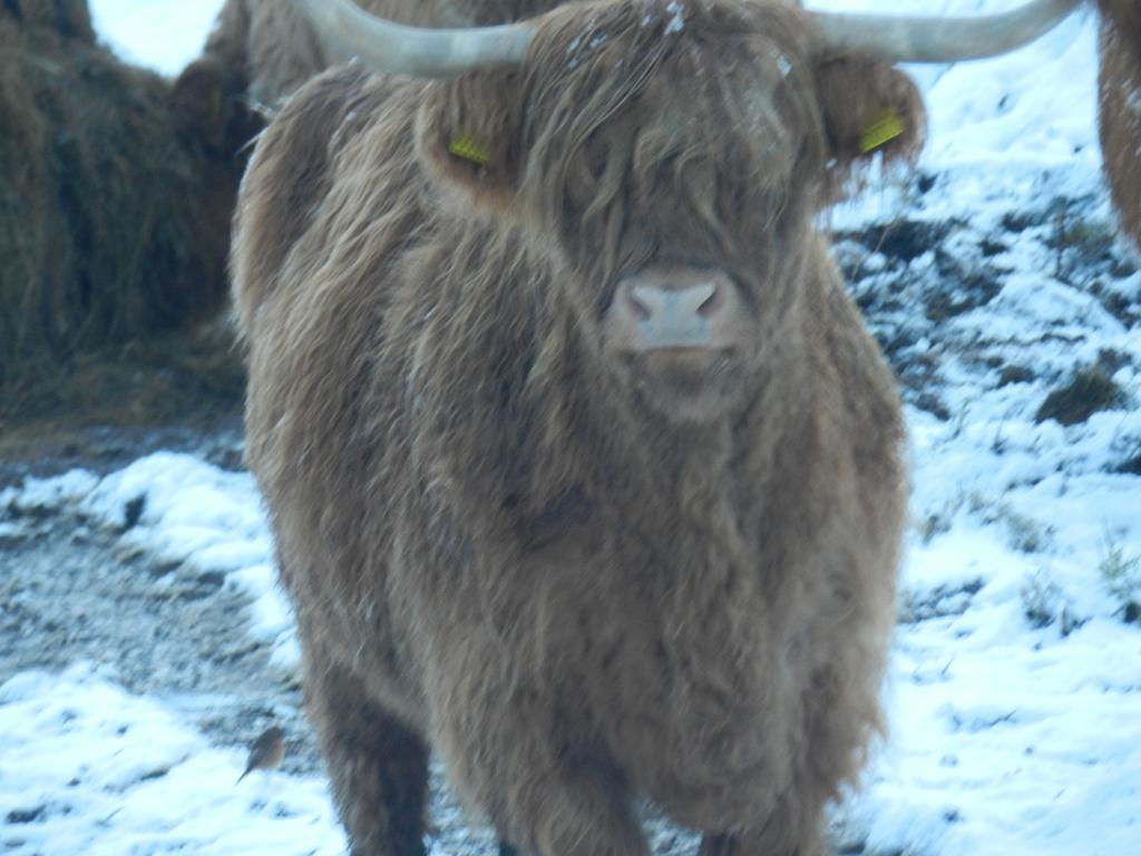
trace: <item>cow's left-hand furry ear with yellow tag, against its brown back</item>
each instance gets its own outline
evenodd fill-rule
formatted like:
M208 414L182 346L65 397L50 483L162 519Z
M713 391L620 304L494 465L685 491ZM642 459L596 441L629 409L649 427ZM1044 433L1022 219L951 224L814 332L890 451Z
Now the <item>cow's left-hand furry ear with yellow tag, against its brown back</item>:
M432 84L416 119L416 146L443 184L477 204L510 204L519 185L516 71L491 71Z

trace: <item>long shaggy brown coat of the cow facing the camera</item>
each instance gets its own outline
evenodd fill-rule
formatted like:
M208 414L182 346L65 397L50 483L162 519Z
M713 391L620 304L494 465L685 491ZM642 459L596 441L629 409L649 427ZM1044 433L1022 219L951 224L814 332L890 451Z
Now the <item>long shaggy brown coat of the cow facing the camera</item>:
M430 745L527 854L645 854L648 797L704 856L817 856L882 726L903 425L814 217L922 105L798 3L666 6L556 10L516 71L329 73L254 154L248 457L355 854L422 853ZM747 307L719 415L602 346L659 258Z

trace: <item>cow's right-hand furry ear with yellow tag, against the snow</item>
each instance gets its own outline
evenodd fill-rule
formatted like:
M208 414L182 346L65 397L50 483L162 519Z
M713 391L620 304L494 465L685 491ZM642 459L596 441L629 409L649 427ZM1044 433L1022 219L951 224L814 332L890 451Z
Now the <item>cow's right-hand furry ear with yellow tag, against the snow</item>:
M819 57L816 88L839 176L876 156L891 162L919 154L926 130L923 99L890 63L850 54Z

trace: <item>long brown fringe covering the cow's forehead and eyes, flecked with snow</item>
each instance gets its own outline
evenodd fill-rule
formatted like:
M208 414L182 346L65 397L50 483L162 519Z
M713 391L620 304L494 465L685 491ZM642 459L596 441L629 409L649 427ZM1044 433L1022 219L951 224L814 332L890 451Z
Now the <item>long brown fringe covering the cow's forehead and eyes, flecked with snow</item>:
M826 145L812 49L790 2L559 10L525 70L526 195L568 241L592 248L629 245L639 229L646 242L693 242L697 216L705 255L768 228L790 196L815 205ZM621 241L592 234L620 228Z

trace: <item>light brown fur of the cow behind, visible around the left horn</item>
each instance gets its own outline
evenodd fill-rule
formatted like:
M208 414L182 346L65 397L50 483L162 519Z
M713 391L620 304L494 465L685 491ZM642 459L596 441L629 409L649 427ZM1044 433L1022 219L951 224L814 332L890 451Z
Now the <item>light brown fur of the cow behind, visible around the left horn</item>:
M567 0L357 0L374 15L416 26L503 24ZM226 0L205 46L225 70L228 91L269 108L335 64L290 0Z

